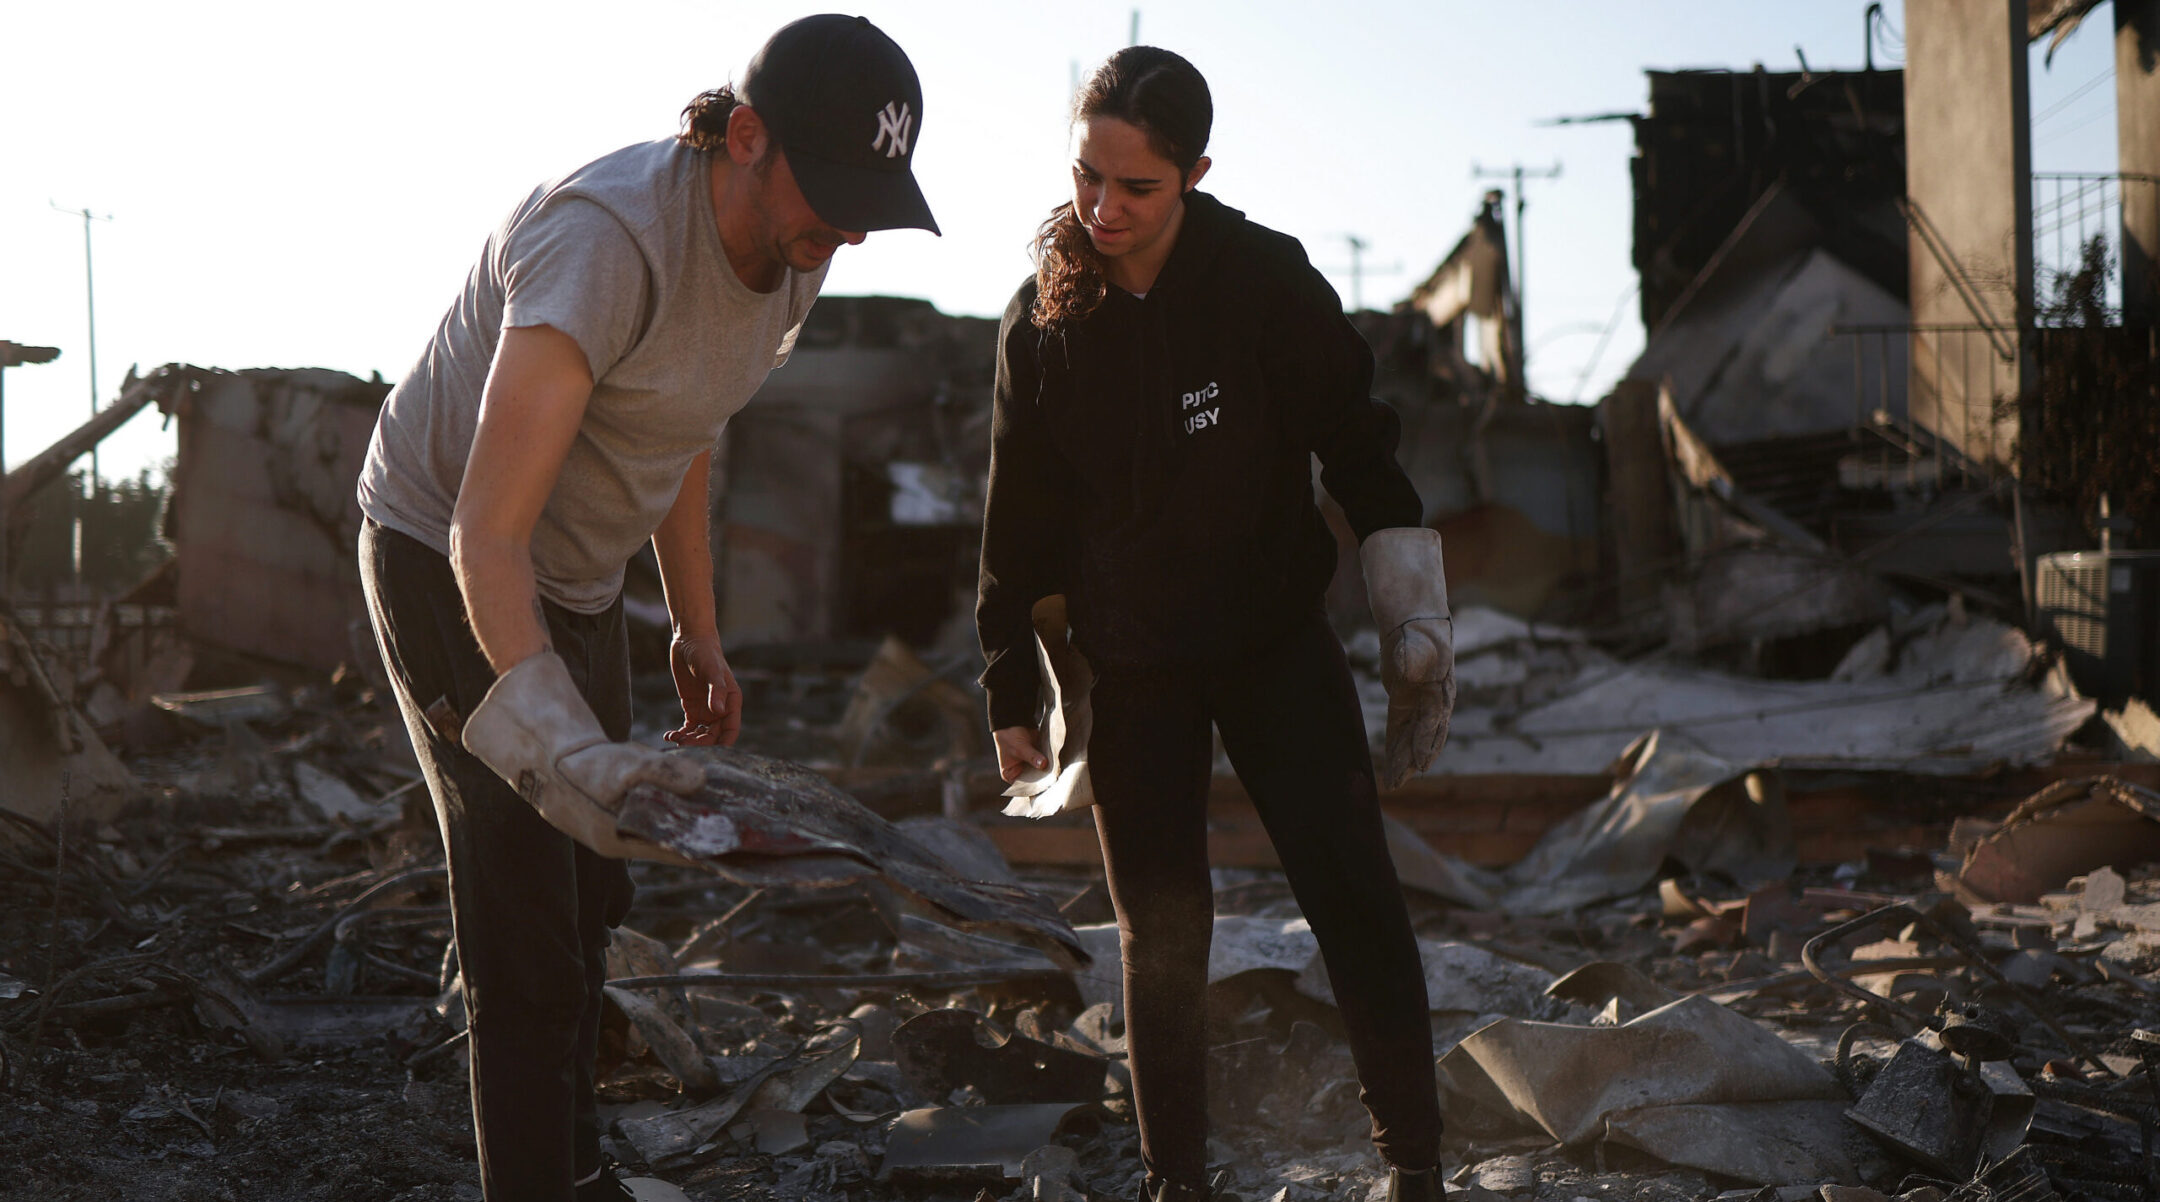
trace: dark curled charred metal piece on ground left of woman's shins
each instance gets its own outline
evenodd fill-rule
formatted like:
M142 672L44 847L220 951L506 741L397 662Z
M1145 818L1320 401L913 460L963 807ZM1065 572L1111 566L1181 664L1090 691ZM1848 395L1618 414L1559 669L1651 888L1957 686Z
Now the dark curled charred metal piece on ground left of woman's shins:
M901 1023L892 1059L929 1098L972 1087L994 1105L1084 1103L1104 1087L1104 1061L1020 1033L998 1036L970 1010L931 1010Z

